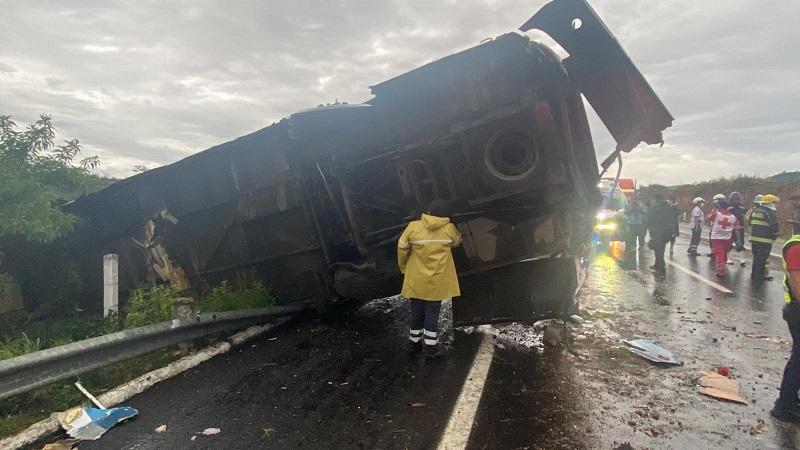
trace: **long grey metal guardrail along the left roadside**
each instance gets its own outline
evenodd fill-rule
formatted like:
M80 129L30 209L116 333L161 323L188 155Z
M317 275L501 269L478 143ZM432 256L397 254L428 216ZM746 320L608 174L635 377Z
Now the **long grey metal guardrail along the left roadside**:
M0 400L111 363L310 309L310 303L198 314L106 334L0 361Z

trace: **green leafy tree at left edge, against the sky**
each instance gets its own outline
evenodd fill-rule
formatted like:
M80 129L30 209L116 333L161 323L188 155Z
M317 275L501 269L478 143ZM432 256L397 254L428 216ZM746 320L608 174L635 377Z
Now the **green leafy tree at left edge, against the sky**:
M78 159L77 139L56 143L50 116L20 130L0 115L0 237L51 241L69 232L75 218L60 209L64 193L87 193L107 184L91 174L97 156Z

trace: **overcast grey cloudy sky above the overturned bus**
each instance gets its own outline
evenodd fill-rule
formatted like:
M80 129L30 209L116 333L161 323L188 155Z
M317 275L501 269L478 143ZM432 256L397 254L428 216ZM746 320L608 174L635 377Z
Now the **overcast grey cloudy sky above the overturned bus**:
M52 115L59 138L125 177L298 109L362 102L370 85L515 30L545 3L0 0L0 114ZM624 175L800 170L800 2L591 3L676 118ZM591 120L602 158L613 144Z

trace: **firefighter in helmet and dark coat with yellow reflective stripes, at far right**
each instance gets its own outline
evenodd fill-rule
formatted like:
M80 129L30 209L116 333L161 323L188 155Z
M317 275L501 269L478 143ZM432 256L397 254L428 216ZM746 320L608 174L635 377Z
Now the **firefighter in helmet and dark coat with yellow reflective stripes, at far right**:
M755 281L771 281L767 262L772 252L772 243L778 237L780 226L775 204L780 199L766 194L750 213L750 248L753 252L753 269L750 277Z

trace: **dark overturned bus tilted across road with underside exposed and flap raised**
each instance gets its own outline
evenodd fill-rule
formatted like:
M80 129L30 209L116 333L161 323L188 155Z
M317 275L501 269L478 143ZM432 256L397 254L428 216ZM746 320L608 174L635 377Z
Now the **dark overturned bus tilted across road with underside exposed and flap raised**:
M68 204L100 286L169 282L193 295L253 270L281 303L399 292L397 238L434 198L455 206L458 324L569 312L600 195L582 96L618 145L659 143L672 117L583 0L547 4L561 58L509 33L371 87L364 104L262 130Z

